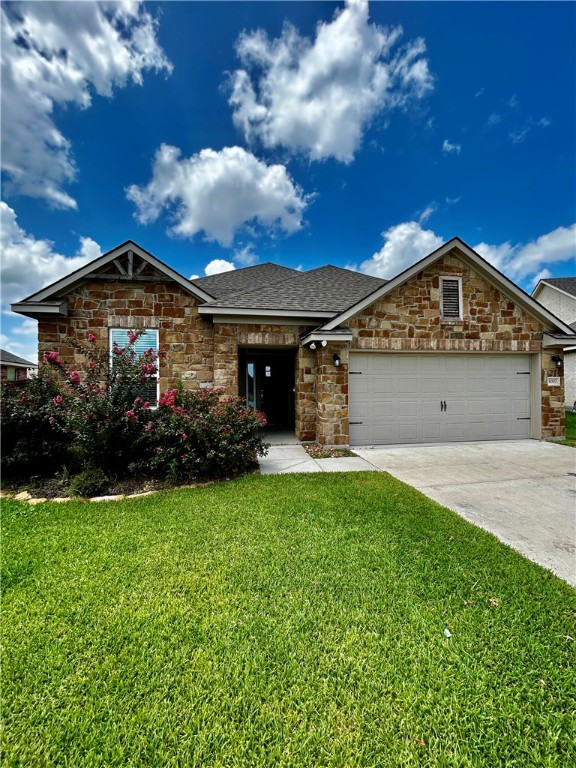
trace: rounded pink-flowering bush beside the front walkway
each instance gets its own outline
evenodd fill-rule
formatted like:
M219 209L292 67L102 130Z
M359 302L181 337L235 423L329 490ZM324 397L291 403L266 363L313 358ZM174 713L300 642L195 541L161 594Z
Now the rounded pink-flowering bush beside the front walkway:
M165 392L150 413L141 443L148 468L172 480L230 477L256 465L268 445L264 414L223 390Z

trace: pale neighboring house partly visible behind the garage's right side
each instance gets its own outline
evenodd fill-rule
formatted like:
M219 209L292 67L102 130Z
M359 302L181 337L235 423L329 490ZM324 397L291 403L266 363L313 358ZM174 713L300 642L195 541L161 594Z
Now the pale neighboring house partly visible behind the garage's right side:
M549 277L540 280L532 296L556 317L576 331L576 277ZM576 405L576 347L564 349L564 398Z

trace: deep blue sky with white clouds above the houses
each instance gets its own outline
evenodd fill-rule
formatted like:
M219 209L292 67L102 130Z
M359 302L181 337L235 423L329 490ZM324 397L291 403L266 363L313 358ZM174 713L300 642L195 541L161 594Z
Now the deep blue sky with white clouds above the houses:
M8 305L132 239L186 277L574 275L576 4L2 3Z

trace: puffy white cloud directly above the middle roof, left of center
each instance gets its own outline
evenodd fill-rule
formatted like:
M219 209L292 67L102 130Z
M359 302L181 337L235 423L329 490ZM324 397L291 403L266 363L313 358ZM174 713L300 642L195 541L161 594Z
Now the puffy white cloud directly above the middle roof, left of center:
M152 180L133 184L127 197L143 224L168 209L172 234L230 246L236 232L248 225L292 233L302 226L306 198L283 165L266 165L241 147L217 152L203 149L189 158L163 144L156 152Z

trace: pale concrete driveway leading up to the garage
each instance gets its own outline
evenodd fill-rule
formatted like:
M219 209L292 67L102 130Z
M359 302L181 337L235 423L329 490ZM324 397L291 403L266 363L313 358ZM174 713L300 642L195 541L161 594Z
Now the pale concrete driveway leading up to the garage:
M576 449L512 440L354 452L576 587Z

